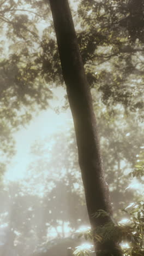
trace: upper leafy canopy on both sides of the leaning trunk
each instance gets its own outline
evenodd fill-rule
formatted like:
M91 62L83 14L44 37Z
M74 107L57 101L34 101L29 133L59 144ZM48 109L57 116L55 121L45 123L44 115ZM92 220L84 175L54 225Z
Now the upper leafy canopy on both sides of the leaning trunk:
M87 0L77 4L73 18L93 94L99 91L110 109L123 104L125 112L136 112L142 119L142 2ZM1 135L9 138L1 144L1 152L9 144L14 153L13 132L32 119L32 111L49 106L50 87L62 85L63 78L49 1L2 1L0 20Z

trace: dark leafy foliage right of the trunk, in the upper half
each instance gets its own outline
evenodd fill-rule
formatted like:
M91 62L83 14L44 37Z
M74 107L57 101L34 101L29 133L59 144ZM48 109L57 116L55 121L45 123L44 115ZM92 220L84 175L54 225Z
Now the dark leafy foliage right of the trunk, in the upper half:
M78 13L81 26L88 35L85 38L85 32L81 32L85 41L85 45L81 46L82 56L89 49L88 45L92 44L84 59L86 72L91 77L91 86L102 92L103 101L108 106L111 102L114 105L119 102L127 110L134 111L143 108L142 98L139 97L142 84L138 82L143 79L142 62L140 67L137 66L143 48L140 38L132 39L129 37L129 28L121 27L123 16L129 13L127 3L82 1Z

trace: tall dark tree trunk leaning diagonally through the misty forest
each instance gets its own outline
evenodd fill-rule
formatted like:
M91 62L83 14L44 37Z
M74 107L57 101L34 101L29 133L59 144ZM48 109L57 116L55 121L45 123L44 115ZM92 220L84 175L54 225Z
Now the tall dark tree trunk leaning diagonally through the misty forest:
M59 56L68 100L73 114L79 164L85 189L88 216L92 230L107 222L112 223L109 188L101 163L97 124L92 96L87 83L68 0L50 0ZM108 153L108 152L107 152ZM98 210L109 215L94 218ZM98 256L122 255L116 242L110 238L103 243L94 241Z

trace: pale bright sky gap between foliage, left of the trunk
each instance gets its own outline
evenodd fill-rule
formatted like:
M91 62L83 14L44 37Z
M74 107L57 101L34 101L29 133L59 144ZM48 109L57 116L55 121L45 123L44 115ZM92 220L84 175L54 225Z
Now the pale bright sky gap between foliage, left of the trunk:
M63 88L53 89L55 100L51 100L50 108L41 111L26 128L15 133L17 154L14 156L5 179L15 181L25 177L28 164L32 161L30 154L31 146L37 139L53 136L58 131L67 132L73 126L70 109L57 114L54 108L64 105L65 90Z

